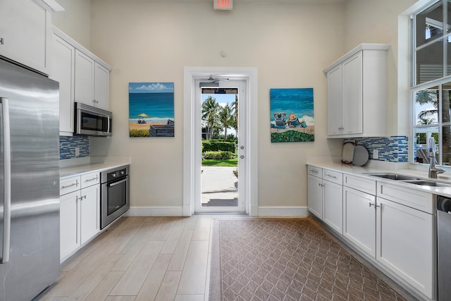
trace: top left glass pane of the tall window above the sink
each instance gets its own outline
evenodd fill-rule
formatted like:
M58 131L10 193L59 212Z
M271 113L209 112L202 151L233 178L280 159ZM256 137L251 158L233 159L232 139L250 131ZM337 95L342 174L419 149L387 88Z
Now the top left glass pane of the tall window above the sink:
M443 35L441 1L416 15L416 47Z

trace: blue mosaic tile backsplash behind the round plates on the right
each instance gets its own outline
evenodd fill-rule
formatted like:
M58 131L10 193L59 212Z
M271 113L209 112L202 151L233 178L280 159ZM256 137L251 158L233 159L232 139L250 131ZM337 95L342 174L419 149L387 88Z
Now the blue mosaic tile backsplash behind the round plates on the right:
M409 138L407 136L350 138L369 152L369 159L390 162L409 161ZM378 159L373 159L373 149L378 149Z

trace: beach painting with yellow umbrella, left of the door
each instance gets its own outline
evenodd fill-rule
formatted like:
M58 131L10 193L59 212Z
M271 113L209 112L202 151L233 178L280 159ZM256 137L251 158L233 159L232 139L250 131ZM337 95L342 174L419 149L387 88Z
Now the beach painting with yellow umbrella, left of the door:
M174 137L174 83L128 83L130 137Z

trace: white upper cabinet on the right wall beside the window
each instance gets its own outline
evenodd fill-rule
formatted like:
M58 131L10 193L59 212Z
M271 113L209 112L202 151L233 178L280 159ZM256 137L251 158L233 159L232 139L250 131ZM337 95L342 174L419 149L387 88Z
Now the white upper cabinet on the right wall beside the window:
M327 76L327 136L386 135L388 44L361 44L324 70Z

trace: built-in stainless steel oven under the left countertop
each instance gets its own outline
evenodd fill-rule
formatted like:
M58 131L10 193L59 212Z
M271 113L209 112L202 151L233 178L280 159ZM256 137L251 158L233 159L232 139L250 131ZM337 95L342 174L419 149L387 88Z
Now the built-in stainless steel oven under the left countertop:
M130 166L121 166L100 174L100 228L103 229L130 208Z

